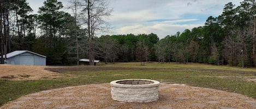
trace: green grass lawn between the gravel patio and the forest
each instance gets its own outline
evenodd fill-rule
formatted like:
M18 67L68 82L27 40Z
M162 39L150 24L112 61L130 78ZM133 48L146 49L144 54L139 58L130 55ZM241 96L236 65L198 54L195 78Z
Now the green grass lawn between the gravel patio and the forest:
M197 87L215 88L223 91L240 93L256 99L256 82L248 81L249 79L256 79L255 68L212 66L199 63L160 64L157 62L146 63L146 66L140 66L140 62L129 62L100 66L100 68L102 67L120 67L120 69L67 72L62 74L70 75L72 78L57 78L53 80L9 81L2 79L0 80L0 106L8 101L19 98L22 95L46 89L87 84L102 84L109 83L113 80L132 78L153 79L168 84L186 84ZM131 69L122 69L127 67ZM95 68L97 69L97 66L95 66ZM171 70L172 68L190 70L174 71ZM225 70L225 72L212 72L212 69L220 71ZM241 71L241 73L233 73L229 71ZM247 74L243 72L251 73Z

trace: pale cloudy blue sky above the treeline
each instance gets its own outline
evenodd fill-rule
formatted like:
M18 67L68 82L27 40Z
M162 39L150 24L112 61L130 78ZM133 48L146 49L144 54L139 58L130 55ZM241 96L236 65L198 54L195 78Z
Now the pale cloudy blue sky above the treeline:
M58 0L67 7L70 0ZM104 35L157 34L159 39L203 26L209 16L222 14L225 4L236 6L243 0L107 0L113 9L106 22L111 33ZM43 0L27 0L37 13ZM68 10L64 11L68 12Z

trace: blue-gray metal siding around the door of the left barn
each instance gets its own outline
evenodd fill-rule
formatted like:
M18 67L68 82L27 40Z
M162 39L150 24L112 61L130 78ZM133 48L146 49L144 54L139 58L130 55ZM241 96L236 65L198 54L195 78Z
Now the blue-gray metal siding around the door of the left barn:
M45 66L46 65L46 58L36 55L36 54L32 54L29 52L25 52L22 53L20 55L16 55L14 57L10 57L9 59L7 59L7 64L9 65L19 65L19 58L20 56L34 56L34 65L38 65L38 66Z

